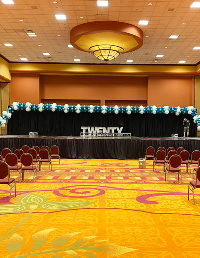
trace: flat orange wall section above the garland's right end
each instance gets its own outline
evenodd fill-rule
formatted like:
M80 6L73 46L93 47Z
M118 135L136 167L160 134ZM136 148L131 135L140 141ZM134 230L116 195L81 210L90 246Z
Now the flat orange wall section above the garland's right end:
M148 105L194 106L194 76L149 76Z

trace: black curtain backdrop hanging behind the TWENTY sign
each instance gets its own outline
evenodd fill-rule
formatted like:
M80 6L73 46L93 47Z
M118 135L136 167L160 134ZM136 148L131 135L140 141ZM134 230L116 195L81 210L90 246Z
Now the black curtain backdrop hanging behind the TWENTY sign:
M183 118L190 120L190 137L196 137L196 124L188 114L67 113L52 111L15 111L8 120L8 135L80 136L81 126L121 127L137 137L183 136Z

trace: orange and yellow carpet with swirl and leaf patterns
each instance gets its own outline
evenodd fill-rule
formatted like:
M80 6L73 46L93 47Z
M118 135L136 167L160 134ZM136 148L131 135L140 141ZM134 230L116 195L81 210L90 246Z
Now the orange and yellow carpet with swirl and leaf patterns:
M187 200L185 168L183 184L176 174L167 184L152 161L61 159L52 168L34 183L26 173L11 202L0 185L1 257L199 257L200 200Z

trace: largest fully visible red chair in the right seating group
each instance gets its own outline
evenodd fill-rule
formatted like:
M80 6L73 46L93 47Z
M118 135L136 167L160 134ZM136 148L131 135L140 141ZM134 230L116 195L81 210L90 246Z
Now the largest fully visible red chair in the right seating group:
M167 174L167 180L169 183L169 179L168 179L168 173L169 172L176 172L178 173L178 182L179 182L179 174L181 176L181 183L182 183L182 174L181 174L181 162L182 159L179 155L173 155L170 157L169 159L169 163L168 163L168 167L166 167L165 171L165 181L166 181L166 174Z

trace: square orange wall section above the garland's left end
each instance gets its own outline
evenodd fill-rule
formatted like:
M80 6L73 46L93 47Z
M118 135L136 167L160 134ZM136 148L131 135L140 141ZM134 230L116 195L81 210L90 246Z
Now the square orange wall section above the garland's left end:
M10 104L14 101L40 103L39 74L14 73L10 83Z

